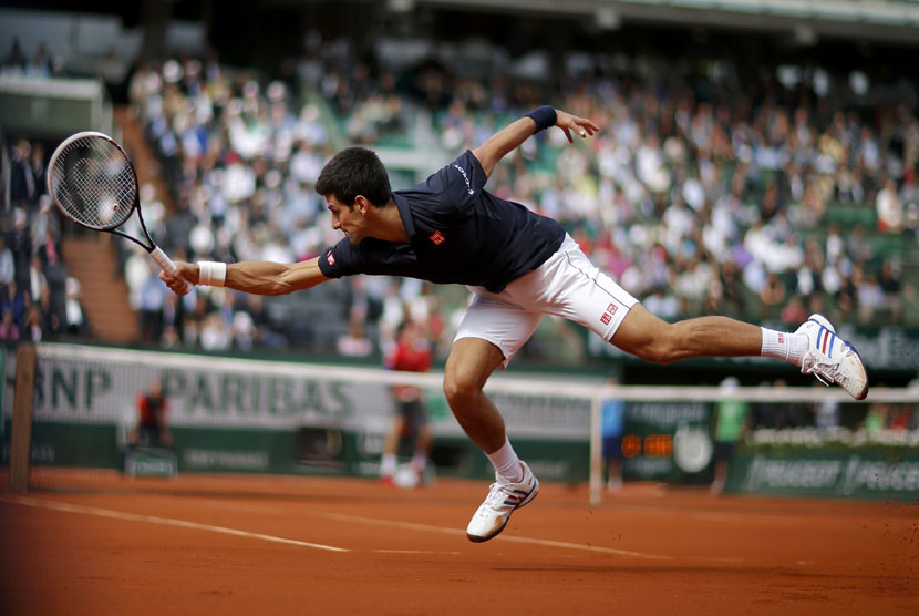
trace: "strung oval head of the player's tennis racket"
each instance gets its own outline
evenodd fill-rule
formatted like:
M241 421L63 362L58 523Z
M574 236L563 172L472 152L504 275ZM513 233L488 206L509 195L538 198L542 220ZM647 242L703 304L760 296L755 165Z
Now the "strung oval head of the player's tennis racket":
M137 192L124 153L104 138L79 138L63 150L51 170L58 203L76 222L113 228L127 219Z

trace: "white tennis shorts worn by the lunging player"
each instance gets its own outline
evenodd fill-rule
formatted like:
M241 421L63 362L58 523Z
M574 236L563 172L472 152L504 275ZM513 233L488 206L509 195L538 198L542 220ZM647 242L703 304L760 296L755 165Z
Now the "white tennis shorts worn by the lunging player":
M570 235L546 263L499 294L467 287L473 294L454 342L482 338L504 353L504 367L524 346L543 315L556 315L612 339L638 299L590 263Z

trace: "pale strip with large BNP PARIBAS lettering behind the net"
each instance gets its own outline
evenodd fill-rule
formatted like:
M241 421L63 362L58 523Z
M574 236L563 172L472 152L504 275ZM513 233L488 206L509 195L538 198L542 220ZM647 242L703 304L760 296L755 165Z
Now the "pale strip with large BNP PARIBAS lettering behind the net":
M7 356L4 404L12 409L14 355ZM392 372L351 366L218 358L74 345L39 347L34 421L111 423L136 417L138 396L162 383L174 427L368 428L393 413ZM402 377L400 377L401 379ZM462 435L443 399L443 374L406 373L425 392L438 434ZM587 440L590 391L492 394L509 430L520 437Z

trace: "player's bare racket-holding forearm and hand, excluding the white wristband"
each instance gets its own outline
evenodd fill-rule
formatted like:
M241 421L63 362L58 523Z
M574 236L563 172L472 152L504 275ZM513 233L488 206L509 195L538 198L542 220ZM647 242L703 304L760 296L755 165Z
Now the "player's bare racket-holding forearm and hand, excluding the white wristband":
M176 294L185 295L183 279L194 285L202 284L200 266L194 263L176 261L175 276L165 271L159 278ZM309 289L328 280L319 269L319 258L285 265L271 261L240 261L227 265L223 286L252 295L287 295ZM184 291L184 292L183 292Z

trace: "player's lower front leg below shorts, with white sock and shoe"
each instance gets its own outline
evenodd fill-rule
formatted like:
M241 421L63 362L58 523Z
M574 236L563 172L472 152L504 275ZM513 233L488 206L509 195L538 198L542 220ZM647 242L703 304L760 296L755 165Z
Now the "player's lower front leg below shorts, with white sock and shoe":
M507 440L504 419L483 391L503 361L504 355L493 343L461 338L453 345L444 370L444 394L456 421L495 466L495 483L466 527L466 536L476 543L497 536L510 514L539 493L539 482L517 458Z

